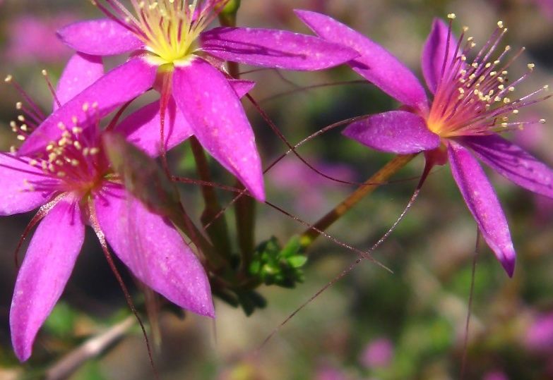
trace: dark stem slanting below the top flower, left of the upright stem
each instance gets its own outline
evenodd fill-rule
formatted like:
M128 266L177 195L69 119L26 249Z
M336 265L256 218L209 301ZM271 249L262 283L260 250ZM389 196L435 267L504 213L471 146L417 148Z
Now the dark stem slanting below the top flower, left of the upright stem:
M200 179L204 182L210 183L211 174L209 171L206 153L196 137L191 137L190 143L194 159L196 160L196 170L198 171L198 176L200 176ZM216 216L220 214L221 206L217 193L215 192L215 188L209 185L203 185L201 187L201 192L203 201L206 204L206 208L203 210L201 215L201 222L203 226L206 226L207 223L212 222L206 232L208 233L215 250L217 250L222 257L229 258L231 254L231 245L227 228L227 219L225 219L224 215L216 218Z

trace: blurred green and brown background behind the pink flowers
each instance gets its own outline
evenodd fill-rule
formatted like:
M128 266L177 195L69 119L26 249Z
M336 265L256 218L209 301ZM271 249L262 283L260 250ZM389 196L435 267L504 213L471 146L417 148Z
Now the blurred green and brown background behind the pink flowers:
M522 75L527 63L536 63L517 94L552 83L551 0L242 0L238 23L309 32L293 8L324 12L347 23L396 54L420 78L422 44L434 17L456 13L454 28L467 25L480 44L503 20L509 27L506 42L527 48L511 68L511 78ZM100 16L89 1L0 0L1 75L13 75L49 110L52 99L41 71L47 69L55 82L71 54L58 42L55 30L73 20ZM256 80L253 96L292 143L335 121L397 106L366 83L336 85L360 79L347 67L320 73L266 70L245 73L243 78ZM312 85L322 86L307 88ZM4 150L16 140L9 121L17 116L19 99L13 87L0 85ZM263 160L269 162L285 152L285 145L253 107L244 104ZM542 102L521 112L521 118L549 121L552 110L551 101ZM528 127L511 137L553 166L550 124ZM317 137L299 152L324 173L353 181L368 178L390 159L347 140L340 130ZM174 169L194 176L190 156L186 144L172 152ZM329 233L355 247L370 247L407 204L416 185L409 178L419 176L422 166L419 157L396 177L404 181L377 190ZM220 182L230 183L225 173L219 174ZM495 173L489 175L509 220L518 262L509 279L492 252L480 245L468 335L476 225L446 167L432 173L408 216L374 254L393 274L362 262L258 349L290 313L355 261L354 252L321 238L309 251L304 283L292 290L261 288L268 306L251 317L219 300L215 321L160 312L160 339L155 342L160 378L460 379L464 360L465 379L553 379L553 202ZM321 178L295 158L270 171L266 183L268 200L311 222L353 190ZM220 195L227 201L232 198L229 193ZM202 203L196 187L183 187L182 200L199 215ZM40 331L31 359L24 364L16 360L8 329L16 276L13 251L31 217L0 219L0 379L42 379L71 354L76 364L73 380L153 379L140 329L129 317L93 233L87 235L66 292ZM233 221L232 210L227 218ZM303 230L289 216L258 207L258 241L275 235L285 242ZM142 293L120 268L137 304L143 304ZM103 342L98 355L79 359L91 338L114 343Z

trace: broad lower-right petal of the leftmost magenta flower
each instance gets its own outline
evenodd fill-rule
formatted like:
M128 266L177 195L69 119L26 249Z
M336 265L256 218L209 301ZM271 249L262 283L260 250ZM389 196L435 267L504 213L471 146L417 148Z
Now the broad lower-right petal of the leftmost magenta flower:
M105 188L95 207L109 245L138 279L184 309L214 316L206 271L170 221L120 187Z

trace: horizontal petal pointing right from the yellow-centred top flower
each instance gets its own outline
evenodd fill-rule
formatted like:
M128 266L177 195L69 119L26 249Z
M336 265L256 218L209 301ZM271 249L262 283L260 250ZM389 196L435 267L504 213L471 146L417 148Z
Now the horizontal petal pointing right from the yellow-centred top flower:
M359 56L339 44L285 30L215 27L201 39L203 51L225 61L287 70L321 70Z

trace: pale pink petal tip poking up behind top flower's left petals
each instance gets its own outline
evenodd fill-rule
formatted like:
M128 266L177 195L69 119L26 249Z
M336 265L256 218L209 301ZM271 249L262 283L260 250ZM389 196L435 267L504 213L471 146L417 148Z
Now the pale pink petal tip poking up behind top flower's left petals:
M82 53L74 54L59 78L56 90L59 102L66 104L79 92L100 79L102 75L104 75L102 57ZM54 111L57 109L57 102L54 101Z

